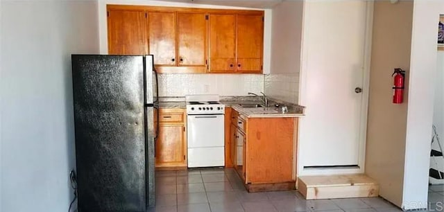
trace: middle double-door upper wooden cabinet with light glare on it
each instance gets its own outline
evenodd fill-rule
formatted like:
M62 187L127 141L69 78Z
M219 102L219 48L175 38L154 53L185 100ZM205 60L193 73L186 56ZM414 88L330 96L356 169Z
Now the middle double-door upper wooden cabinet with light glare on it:
M160 72L174 72L171 67L205 72L206 40L205 13L148 11L148 53Z

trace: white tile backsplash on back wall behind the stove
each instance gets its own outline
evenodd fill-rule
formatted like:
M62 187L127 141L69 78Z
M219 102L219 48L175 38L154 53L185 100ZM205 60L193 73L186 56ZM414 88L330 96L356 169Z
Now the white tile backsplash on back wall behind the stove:
M261 91L264 91L264 75L262 74L159 74L159 96L185 96L186 94L246 96L248 92Z

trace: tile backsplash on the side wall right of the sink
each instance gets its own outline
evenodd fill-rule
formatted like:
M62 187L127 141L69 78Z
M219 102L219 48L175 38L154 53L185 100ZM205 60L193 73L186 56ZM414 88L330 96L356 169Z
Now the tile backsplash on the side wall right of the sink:
M264 79L268 96L298 104L299 73L270 73Z

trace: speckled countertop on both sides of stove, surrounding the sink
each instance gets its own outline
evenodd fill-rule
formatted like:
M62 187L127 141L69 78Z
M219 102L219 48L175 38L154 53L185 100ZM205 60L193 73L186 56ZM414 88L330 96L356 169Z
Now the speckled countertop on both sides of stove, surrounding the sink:
M230 98L221 98L221 103L225 107L232 107L236 109L239 114L246 116L246 118L276 118L276 117L300 117L304 116L305 107L295 105L292 103L284 103L279 100L269 100L268 105L272 107L258 107L258 108L244 108L241 104L261 104L262 102L257 98L250 98L250 96L239 96ZM279 104L280 107L275 107ZM288 111L282 112L282 106L287 106ZM184 98L160 98L160 108L186 108Z

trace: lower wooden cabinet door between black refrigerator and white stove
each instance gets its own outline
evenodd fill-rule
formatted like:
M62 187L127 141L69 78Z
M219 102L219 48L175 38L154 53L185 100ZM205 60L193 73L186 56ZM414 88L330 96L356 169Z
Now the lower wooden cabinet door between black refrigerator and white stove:
M160 125L156 147L156 166L187 166L185 125Z

